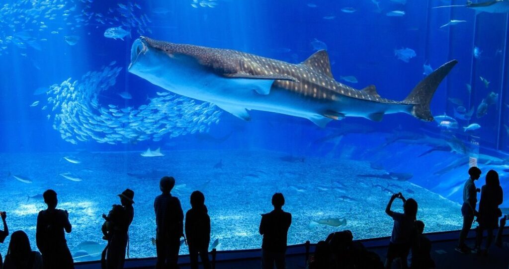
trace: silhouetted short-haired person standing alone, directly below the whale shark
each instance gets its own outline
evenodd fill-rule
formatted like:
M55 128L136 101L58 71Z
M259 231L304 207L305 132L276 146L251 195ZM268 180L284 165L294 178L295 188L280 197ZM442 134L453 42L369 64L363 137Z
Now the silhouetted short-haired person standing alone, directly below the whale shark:
M284 269L286 266L285 254L287 249L288 229L292 224L292 214L282 210L284 204L285 197L282 193L275 193L272 196L274 210L270 213L262 214L260 234L263 235L263 269L274 268L274 263L277 269Z

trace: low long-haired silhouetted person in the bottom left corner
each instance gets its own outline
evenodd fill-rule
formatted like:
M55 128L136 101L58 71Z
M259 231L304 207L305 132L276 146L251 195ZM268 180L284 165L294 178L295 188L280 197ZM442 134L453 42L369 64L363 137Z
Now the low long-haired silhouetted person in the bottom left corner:
M11 235L9 250L2 269L42 269L42 256L32 251L29 237L24 231L15 231ZM61 267L54 267L61 268Z

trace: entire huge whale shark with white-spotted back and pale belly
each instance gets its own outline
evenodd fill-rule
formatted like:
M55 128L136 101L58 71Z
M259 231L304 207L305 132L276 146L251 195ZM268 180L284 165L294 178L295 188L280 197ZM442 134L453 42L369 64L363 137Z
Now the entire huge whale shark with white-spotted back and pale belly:
M290 64L231 49L175 44L140 37L131 48L129 72L173 93L210 102L249 120L248 110L308 118L320 127L357 116L381 121L404 112L433 121L430 102L457 64L450 61L420 81L403 101L380 97L375 86L361 90L337 82L329 57L320 50Z

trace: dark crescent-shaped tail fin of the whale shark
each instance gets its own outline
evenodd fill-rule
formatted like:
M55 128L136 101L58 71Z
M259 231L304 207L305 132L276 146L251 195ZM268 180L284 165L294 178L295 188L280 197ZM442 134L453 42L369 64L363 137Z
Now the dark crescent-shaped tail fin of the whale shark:
M409 111L410 114L422 121L433 121L433 115L430 111L431 99L433 99L433 95L438 85L440 85L440 82L442 82L457 63L458 61L456 60L445 63L426 78L422 79L419 84L413 88L412 92L403 100L403 103L413 105Z

